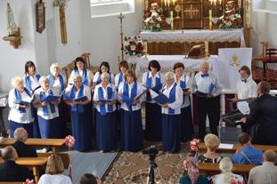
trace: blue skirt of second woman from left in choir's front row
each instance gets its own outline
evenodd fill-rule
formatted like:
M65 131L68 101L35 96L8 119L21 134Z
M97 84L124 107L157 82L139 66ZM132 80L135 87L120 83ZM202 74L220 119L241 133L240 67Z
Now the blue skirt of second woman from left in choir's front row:
M60 131L59 120L60 117L53 119L45 119L37 116L40 135L42 139L57 139Z

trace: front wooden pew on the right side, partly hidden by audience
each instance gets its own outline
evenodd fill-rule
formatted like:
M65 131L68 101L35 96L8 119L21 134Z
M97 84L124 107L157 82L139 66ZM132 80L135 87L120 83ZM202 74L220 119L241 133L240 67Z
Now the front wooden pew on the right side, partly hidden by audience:
M254 144L253 146L254 146L254 148L261 149L262 151L265 151L267 149L272 149L273 151L277 152L277 146L257 145L257 144ZM204 142L200 142L199 148L200 148L200 151L202 151L202 152L205 152L207 150L207 147L205 146ZM233 144L232 149L217 148L216 152L218 152L218 153L234 154L236 152L236 150L240 149L240 148L242 148L242 146L240 146L240 144Z

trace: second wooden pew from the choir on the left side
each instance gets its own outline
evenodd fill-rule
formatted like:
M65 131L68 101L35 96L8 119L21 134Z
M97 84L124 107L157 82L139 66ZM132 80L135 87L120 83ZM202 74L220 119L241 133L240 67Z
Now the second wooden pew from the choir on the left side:
M3 163L4 160L0 158L0 163ZM45 171L45 165L47 163L47 157L20 157L16 159L16 164L26 166L29 170L33 171L36 183L39 180L39 171ZM23 183L23 182L21 182Z

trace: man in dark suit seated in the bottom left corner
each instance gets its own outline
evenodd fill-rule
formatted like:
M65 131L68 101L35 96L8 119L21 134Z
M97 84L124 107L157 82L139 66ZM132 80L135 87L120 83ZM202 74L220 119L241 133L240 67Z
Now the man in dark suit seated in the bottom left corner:
M25 181L34 179L27 167L15 163L18 158L16 150L12 146L2 149L4 163L0 164L0 181Z

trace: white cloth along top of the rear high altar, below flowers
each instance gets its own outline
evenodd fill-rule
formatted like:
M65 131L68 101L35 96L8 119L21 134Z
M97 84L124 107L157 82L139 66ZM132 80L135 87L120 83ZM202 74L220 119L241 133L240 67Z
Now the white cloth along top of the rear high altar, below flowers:
M245 46L243 28L234 29L185 29L185 30L163 30L160 32L142 31L140 36L148 43L200 43L200 42L239 42Z

